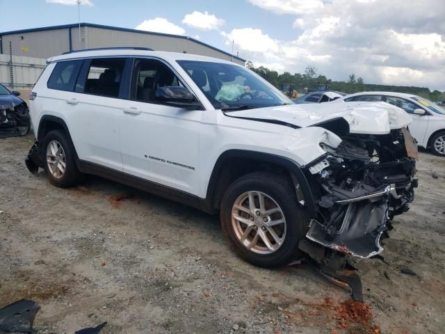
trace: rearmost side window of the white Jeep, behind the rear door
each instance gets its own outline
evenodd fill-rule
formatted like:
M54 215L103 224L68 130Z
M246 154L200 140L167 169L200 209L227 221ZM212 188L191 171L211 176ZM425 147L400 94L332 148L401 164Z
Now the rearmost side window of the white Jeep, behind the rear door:
M56 63L47 87L57 90L74 90L82 61L59 61Z

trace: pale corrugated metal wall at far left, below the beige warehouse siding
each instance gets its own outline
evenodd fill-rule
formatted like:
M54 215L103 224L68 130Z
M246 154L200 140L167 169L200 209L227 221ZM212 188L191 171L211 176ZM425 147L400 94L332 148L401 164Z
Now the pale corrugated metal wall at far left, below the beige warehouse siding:
M13 56L13 83L11 83L10 57L0 54L0 83L10 88L32 88L46 66L46 60Z

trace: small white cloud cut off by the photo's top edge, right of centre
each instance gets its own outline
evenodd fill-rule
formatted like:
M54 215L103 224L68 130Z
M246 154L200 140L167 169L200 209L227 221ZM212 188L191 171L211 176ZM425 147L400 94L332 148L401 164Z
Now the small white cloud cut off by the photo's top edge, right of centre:
M323 8L321 0L249 0L255 6L277 14L307 14Z

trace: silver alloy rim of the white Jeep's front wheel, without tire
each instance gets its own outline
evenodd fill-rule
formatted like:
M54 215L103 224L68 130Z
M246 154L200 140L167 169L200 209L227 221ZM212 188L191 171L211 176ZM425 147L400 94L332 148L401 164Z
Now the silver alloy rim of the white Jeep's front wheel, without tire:
M236 198L232 227L238 241L259 254L274 253L286 237L286 219L280 205L261 191L246 191Z

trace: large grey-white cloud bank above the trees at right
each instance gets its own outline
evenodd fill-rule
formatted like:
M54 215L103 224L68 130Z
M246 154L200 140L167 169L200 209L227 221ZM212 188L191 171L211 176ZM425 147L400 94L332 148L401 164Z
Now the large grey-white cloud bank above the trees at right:
M250 33L237 43L235 36L235 51L253 63L270 63L277 70L282 65L291 73L315 65L337 80L355 73L368 83L445 90L443 0L414 0L409 6L404 0L248 1L270 13L293 15L296 28L296 37L288 40L273 39L256 27L234 29L259 31L272 41L263 45Z

